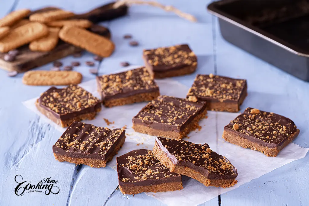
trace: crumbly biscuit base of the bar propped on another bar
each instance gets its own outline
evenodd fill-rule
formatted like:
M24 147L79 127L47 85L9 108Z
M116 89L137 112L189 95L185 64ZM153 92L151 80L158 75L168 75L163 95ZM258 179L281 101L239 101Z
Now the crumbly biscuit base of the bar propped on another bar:
M157 142L155 142L155 146L152 152L155 154L155 156L160 160L160 162L163 165L165 165L167 168L170 169L171 172L176 172L178 174L186 175L188 177L196 179L200 183L204 184L206 187L214 186L214 187L226 188L226 187L232 187L237 183L237 180L235 179L207 179L203 174L201 174L196 170L193 170L186 166L175 165L170 160L170 158L167 157L167 154L160 149Z

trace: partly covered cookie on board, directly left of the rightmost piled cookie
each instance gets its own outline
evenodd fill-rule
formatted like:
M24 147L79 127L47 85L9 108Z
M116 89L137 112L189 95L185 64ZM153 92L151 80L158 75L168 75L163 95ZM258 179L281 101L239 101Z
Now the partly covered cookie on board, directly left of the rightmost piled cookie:
M47 36L34 40L29 44L29 49L31 51L49 52L57 46L60 28L54 27L48 28L48 30L49 34Z

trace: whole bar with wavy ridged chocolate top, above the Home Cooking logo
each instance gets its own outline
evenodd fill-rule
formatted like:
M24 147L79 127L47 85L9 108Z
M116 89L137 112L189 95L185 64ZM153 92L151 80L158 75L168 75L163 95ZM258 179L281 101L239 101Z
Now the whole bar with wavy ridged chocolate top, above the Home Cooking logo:
M53 145L57 160L105 167L125 141L125 130L74 121Z

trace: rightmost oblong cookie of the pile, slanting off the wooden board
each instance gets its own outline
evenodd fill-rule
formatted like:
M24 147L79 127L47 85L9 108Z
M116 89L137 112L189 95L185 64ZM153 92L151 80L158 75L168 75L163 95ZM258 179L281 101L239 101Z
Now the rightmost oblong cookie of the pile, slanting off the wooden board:
M100 57L109 57L115 49L112 41L79 27L63 27L59 37L69 44L86 49Z

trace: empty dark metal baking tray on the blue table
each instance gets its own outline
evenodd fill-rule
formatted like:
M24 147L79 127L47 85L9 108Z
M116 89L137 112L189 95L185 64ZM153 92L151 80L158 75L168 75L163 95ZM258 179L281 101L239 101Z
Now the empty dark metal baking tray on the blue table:
M309 0L222 0L207 8L224 39L309 82Z

